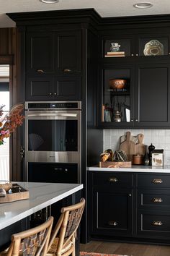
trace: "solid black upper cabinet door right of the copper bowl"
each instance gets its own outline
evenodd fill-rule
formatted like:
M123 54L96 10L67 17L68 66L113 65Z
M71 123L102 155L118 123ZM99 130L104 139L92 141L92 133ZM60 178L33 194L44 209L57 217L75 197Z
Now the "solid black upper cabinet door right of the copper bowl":
M135 125L166 126L169 122L168 64L138 67L138 103L135 105Z

